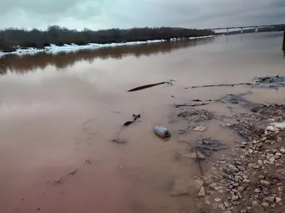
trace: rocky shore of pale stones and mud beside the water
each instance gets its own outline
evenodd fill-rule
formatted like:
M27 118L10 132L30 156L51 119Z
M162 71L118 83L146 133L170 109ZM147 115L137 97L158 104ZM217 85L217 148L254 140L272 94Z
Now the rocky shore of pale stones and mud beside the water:
M269 78L264 79L272 83ZM229 148L230 155L223 154L216 162L208 162L210 166L206 173L195 177L195 180L175 181L172 195L191 195L189 188L194 188L199 212L285 211L285 105L252 103L244 95L227 94L216 101L223 104L239 104L247 113L225 116L192 107L187 111L185 108L181 109L177 114L180 119L188 122L188 129L193 131L206 129L195 129L202 121L231 120L222 124L222 128L233 131L242 138L242 142L235 142L234 147ZM185 134L185 131L181 133ZM210 141L209 138L202 138L196 147L192 147L192 153L182 157L195 159L197 163L207 161L212 151L222 150L215 149L219 142L213 141L214 138ZM204 144L204 147L201 144ZM222 147L225 147L224 144ZM189 211L180 209L180 213L185 212Z

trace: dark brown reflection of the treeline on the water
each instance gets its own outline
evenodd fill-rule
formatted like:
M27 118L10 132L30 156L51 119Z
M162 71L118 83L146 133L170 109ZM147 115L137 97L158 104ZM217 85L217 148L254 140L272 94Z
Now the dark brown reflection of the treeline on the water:
M5 55L1 60L4 62L0 66L0 74L6 72L16 72L19 74L44 69L48 65L55 66L58 70L66 69L76 64L76 62L85 60L90 63L96 58L107 60L110 58L121 59L126 55L135 55L140 58L142 55L155 55L158 53L170 53L172 50L180 48L195 47L214 42L214 38L203 40L177 40L175 42L151 43L142 45L125 45L112 48L100 48L97 50L78 50L73 53L61 52L56 55L50 53L38 53L37 55Z

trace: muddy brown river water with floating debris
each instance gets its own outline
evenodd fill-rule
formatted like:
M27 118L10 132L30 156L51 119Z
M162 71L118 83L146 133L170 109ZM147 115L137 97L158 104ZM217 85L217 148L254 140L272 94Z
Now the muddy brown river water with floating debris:
M213 137L234 147L242 138L219 126L227 120L203 121L206 131L181 135L187 122L177 113L183 109L170 105L249 91L252 102L284 104L284 88L185 89L285 75L282 36L231 35L0 58L0 212L172 213L181 206L197 212L196 192L170 196L175 180L201 175L194 160L175 159L191 148L177 140L195 146L199 138ZM127 92L168 80L176 82ZM211 103L199 109L227 116L248 111L230 107ZM127 143L110 142L133 114L140 114L141 122L120 133ZM170 129L169 141L153 133L158 124ZM230 150L211 155L204 172L223 154Z

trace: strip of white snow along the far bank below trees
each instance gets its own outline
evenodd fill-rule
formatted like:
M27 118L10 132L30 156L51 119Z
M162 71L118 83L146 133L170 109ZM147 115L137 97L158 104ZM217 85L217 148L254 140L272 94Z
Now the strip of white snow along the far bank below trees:
M186 40L186 39L199 39L199 38L211 38L215 35L209 35L209 36L200 36L200 37L190 37L190 38L171 38L170 41L175 40ZM108 43L108 44L98 44L98 43L88 43L87 45L76 45L76 44L65 44L63 46L53 45L47 46L42 49L37 48L18 48L14 52L4 53L0 51L0 57L7 54L16 54L16 55L36 55L37 53L46 52L51 54L56 54L60 52L66 52L66 53L72 53L76 52L78 50L85 50L85 49L98 49L98 48L108 48L108 47L117 47L117 46L123 46L123 45L140 45L145 43L159 43L159 42L165 42L166 40L147 40L147 41L135 41L135 42L127 42L127 43Z

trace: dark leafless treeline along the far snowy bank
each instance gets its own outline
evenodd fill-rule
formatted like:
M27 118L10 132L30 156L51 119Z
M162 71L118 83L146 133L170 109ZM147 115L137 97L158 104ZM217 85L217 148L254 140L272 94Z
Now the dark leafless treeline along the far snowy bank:
M43 48L55 44L86 45L88 43L125 43L145 40L170 40L170 38L186 38L214 35L213 31L187 28L131 28L120 30L83 31L69 30L60 26L48 26L46 31L33 29L27 31L19 28L6 28L0 31L0 50L13 51L16 47Z

